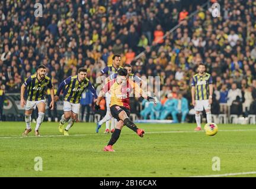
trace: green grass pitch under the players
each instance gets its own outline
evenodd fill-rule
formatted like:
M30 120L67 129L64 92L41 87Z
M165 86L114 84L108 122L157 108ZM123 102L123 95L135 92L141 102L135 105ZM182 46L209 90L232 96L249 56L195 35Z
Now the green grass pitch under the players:
M0 122L0 177L191 177L256 171L256 125L218 125L215 136L194 124L137 124L140 138L124 127L116 152L103 152L111 135L94 123L75 123L62 136L58 123L44 122L40 137L21 137L24 122ZM35 123L32 123L34 129ZM43 171L35 171L35 157ZM213 157L220 171L213 171ZM255 177L256 174L236 175Z

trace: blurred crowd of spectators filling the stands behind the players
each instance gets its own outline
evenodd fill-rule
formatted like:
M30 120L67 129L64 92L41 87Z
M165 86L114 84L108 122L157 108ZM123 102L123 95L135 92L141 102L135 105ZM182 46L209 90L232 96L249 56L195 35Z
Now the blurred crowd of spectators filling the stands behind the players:
M255 1L211 1L220 4L219 18L199 5L190 17L194 10L175 0L39 2L43 17L34 17L32 1L0 2L0 96L20 92L39 64L47 66L55 88L79 67L95 84L97 73L120 54L137 76L161 77L162 107L184 97L190 109L191 77L203 62L214 83L213 114L228 106L233 114L256 114Z

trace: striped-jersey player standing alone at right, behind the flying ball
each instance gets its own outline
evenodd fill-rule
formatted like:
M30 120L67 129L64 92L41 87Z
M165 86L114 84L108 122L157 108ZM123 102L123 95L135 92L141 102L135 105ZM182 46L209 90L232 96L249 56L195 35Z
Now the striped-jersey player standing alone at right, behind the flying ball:
M192 104L196 110L197 128L195 131L201 130L200 112L206 111L207 123L212 123L212 114L210 105L212 104L213 81L212 76L206 73L206 66L203 63L197 68L198 73L193 76L191 83ZM196 100L195 100L196 99Z

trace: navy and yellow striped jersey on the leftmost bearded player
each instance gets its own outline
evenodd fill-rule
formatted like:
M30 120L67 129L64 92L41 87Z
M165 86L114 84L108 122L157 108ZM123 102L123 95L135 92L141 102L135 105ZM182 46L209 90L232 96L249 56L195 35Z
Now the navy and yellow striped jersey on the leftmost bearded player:
M50 77L44 76L44 79L39 80L37 74L28 77L24 84L30 101L44 100L47 88L53 87Z

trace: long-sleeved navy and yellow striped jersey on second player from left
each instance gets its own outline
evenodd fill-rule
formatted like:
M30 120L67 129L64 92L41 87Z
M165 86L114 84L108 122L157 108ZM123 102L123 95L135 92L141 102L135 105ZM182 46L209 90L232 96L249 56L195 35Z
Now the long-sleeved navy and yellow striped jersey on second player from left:
M63 87L65 88L63 89ZM94 97L97 98L96 90L92 86L91 82L89 82L89 79L85 77L84 81L79 82L78 75L70 76L60 83L56 95L59 96L61 90L63 89L64 101L79 103L82 92L84 92L86 88L88 88L94 94Z

